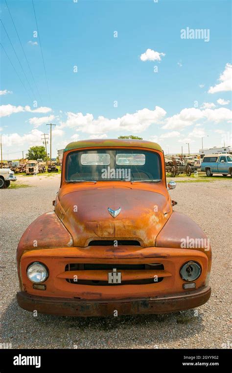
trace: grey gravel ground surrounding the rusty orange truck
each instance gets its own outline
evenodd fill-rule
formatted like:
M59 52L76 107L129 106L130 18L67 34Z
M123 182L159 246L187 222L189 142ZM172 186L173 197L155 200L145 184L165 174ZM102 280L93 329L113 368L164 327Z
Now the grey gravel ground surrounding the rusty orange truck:
M16 302L16 248L26 227L53 209L59 180L60 174L19 177L17 183L33 187L0 190L1 343L11 343L12 348L222 348L229 344L231 178L179 183L170 192L178 202L174 209L193 218L210 239L212 295L206 304L166 315L33 317Z

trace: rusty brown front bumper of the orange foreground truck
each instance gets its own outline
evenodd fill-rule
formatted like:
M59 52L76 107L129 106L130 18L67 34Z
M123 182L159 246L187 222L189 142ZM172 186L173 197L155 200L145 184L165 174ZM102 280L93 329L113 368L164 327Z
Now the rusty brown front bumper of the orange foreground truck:
M78 300L17 293L17 301L24 310L60 316L117 316L164 314L195 308L206 303L211 288L205 286L186 293L176 293L139 299Z

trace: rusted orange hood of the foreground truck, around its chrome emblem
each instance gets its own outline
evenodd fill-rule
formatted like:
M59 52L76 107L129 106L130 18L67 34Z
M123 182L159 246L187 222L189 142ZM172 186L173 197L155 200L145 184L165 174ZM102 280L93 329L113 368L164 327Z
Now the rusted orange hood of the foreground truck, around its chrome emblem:
M120 213L113 217L108 208ZM74 246L92 240L138 240L155 246L172 213L170 200L157 191L130 187L96 187L58 194L55 212L70 232Z

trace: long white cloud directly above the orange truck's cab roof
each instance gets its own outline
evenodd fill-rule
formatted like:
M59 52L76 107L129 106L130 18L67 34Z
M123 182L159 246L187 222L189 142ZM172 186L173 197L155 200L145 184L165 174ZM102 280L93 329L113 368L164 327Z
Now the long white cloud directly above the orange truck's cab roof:
M76 131L94 135L108 131L140 133L145 131L151 124L160 123L165 115L166 111L158 106L154 110L144 108L133 114L125 114L117 119L108 119L104 116L98 116L97 119L94 119L93 114L87 113L84 115L81 112L68 112L67 121L62 122L60 128L74 128Z

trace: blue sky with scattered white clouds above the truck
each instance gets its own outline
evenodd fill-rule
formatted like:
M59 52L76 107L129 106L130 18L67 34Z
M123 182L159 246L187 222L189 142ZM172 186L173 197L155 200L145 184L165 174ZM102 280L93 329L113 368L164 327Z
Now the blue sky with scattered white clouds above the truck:
M121 134L157 141L165 153L187 152L186 142L198 152L202 137L204 147L231 145L231 1L34 0L50 98L32 1L6 2L0 18L35 97L0 24L31 96L1 48L3 158L41 145L50 122L53 157L70 141ZM187 27L194 39L181 38Z

